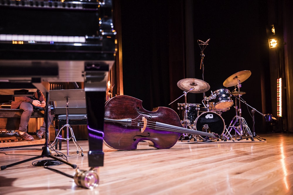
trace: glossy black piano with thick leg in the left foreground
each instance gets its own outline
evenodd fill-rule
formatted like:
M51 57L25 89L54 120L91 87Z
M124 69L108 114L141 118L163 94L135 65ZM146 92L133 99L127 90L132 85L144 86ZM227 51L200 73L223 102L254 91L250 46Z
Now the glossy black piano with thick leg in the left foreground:
M112 0L0 1L0 90L45 94L51 82L84 82L91 168L104 159L103 111L116 47L112 11Z

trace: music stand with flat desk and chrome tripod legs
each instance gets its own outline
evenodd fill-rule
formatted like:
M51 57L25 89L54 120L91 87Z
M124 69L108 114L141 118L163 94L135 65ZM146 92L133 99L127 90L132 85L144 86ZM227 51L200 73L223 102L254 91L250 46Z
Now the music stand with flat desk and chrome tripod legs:
M54 140L54 142L57 139L62 139L62 140L66 140L67 141L67 155L69 155L69 140L72 139L73 143L76 146L76 153L79 153L78 151L78 147L81 149L81 156L84 156L84 153L82 151L81 146L77 143L75 136L74 136L74 132L72 130L72 128L69 125L69 100L70 101L74 101L75 103L75 107L79 106L79 101L84 101L86 100L85 97L85 92L84 89L61 89L61 90L50 90L49 91L49 101L53 101L53 102L58 102L58 106L62 106L63 108L66 108L66 124L63 125L60 129L58 134L56 135L56 138ZM67 133L66 133L66 138L62 138L59 137L60 132L62 131L62 129L66 127ZM71 137L69 137L69 130L71 133ZM53 142L53 143L54 143Z

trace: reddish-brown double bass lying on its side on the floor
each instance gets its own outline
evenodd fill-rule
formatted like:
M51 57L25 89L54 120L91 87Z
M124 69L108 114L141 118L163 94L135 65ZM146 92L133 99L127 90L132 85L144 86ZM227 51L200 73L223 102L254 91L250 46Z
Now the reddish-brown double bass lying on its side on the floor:
M140 141L168 149L183 133L215 137L215 134L183 128L178 114L167 107L147 111L142 101L131 96L115 96L105 102L104 143L117 150L135 150Z

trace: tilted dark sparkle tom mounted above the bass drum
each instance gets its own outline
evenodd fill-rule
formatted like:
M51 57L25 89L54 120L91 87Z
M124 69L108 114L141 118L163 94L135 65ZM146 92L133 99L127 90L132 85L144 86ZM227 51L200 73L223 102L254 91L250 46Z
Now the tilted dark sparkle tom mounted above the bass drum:
M217 110L230 108L233 105L229 89L218 89L214 91L214 106Z

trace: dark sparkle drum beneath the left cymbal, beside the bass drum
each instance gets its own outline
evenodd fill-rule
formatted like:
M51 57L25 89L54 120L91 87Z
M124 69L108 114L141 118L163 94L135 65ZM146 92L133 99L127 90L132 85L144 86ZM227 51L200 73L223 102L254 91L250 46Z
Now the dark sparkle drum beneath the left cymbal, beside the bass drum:
M187 108L187 119L193 124L194 120L198 116L200 110L200 104L198 103L186 103ZM184 120L185 103L178 103L179 118Z

